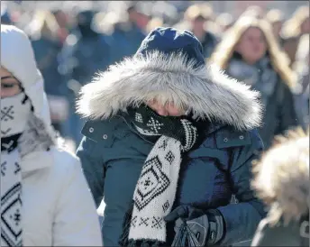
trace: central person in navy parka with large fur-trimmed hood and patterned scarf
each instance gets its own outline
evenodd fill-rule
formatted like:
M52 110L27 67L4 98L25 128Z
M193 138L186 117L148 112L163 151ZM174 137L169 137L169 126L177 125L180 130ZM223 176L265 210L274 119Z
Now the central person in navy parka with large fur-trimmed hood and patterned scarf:
M83 87L78 157L97 206L105 201L104 245L171 246L180 218L199 246L250 240L264 216L250 187L258 102L206 68L191 32L172 28Z

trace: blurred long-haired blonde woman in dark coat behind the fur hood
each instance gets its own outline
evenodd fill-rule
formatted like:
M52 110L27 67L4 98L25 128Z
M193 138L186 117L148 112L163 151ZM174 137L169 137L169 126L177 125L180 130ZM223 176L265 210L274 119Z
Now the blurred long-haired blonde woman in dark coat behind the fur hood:
M297 77L269 23L250 16L240 18L226 32L210 62L260 92L265 109L260 137L266 149L275 135L298 124L292 94Z

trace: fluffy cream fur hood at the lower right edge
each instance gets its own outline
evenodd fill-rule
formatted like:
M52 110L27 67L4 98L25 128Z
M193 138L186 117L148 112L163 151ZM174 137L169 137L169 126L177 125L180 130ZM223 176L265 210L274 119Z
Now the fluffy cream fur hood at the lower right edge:
M252 188L269 206L269 223L299 220L310 206L309 132L301 128L278 136L260 161L253 162Z

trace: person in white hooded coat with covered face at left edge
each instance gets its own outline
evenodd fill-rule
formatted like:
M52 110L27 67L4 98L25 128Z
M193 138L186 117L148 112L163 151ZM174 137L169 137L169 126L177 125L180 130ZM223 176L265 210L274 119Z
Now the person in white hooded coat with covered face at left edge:
M31 42L1 25L1 246L102 246L78 158L64 151Z

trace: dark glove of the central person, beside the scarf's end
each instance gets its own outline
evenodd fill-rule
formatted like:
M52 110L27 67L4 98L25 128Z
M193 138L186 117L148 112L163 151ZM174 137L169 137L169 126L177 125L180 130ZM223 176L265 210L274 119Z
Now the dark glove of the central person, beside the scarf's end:
M224 234L223 215L217 209L210 209L206 213L193 206L178 206L165 218L165 221L176 221L175 232L178 233L182 224L196 236L199 246L209 246L219 242Z

